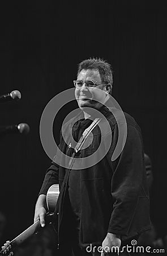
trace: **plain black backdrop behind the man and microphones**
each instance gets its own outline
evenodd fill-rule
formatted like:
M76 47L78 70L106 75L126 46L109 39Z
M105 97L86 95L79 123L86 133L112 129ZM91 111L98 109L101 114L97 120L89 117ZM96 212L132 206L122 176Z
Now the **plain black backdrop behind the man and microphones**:
M0 17L0 94L22 93L20 101L1 104L0 125L26 122L31 127L27 136L0 138L4 239L32 224L50 165L40 142L42 111L53 96L73 86L78 63L93 56L112 64L113 97L142 129L144 150L153 164L151 217L159 234L165 233L165 1L1 1ZM69 111L66 106L62 113ZM56 117L57 139L63 114Z

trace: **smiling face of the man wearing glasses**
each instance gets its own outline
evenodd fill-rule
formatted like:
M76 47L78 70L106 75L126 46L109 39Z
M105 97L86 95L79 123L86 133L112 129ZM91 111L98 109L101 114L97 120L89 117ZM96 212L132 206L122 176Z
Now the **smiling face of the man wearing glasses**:
M82 69L79 73L77 80L82 80L83 82L88 80L96 81L97 84L101 83L100 73L96 69ZM75 98L78 101L79 108L95 108L99 109L101 107L100 102L104 102L106 97L106 87L105 84L101 84L96 87L87 87L83 84L82 87L75 89Z

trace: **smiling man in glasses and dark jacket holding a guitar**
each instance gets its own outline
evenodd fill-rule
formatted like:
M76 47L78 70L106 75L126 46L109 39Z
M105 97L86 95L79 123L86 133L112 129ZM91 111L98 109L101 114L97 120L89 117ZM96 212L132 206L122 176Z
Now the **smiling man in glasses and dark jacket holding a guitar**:
M36 203L35 221L40 219L41 226L44 226L46 192L50 185L59 183L61 194L56 213L61 255L105 255L113 246L120 247L132 238L137 239L150 226L142 135L134 118L128 114L125 114L125 147L112 161L119 138L118 125L122 125L122 120L116 120L112 110L104 106L110 102L112 84L112 69L106 61L93 58L79 64L74 85L81 112L63 127L59 148L72 156L76 145L71 146L71 136L77 143L93 120L102 115L99 125L92 130L93 140L77 152L74 161L74 166L77 159L83 166L88 161L87 157L97 151L95 164L81 169L79 165L78 169L73 166L68 170L61 166L65 159L58 155L60 164L52 162ZM103 128L100 130L100 127ZM62 135L69 144L65 143ZM108 142L111 145L106 150ZM101 154L104 157L98 162ZM99 246L102 246L101 251Z

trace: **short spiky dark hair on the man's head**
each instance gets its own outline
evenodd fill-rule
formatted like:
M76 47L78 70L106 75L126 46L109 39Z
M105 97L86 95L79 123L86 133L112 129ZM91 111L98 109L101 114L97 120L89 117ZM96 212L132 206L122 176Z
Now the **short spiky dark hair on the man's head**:
M82 69L97 69L100 73L101 81L108 82L109 84L113 85L113 70L111 65L107 63L105 60L100 58L97 59L94 57L87 60L83 60L78 65L77 75L79 75Z

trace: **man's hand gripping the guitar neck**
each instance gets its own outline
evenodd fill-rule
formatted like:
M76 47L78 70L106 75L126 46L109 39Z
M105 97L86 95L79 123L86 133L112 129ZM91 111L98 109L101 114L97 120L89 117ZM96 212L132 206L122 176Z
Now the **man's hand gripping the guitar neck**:
M45 226L45 216L46 216L46 195L40 195L38 197L36 207L34 222L40 220L42 228Z

